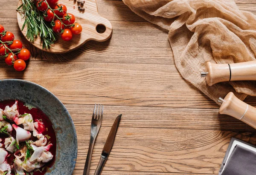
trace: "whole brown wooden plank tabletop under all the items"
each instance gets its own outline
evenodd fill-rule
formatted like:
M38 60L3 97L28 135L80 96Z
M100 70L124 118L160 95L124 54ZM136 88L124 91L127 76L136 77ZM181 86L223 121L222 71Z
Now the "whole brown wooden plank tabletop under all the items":
M1 0L0 24L32 52L24 72L0 60L0 79L18 78L49 89L67 107L78 135L73 175L82 175L95 103L104 119L93 150L91 175L114 119L122 120L102 175L218 174L231 137L256 144L256 130L227 115L177 71L168 31L134 14L121 0L97 0L113 36L53 55L32 47L17 25L18 0ZM63 0L65 1L65 0ZM256 0L236 0L256 14ZM247 98L256 106L256 98ZM68 129L68 128L67 128Z

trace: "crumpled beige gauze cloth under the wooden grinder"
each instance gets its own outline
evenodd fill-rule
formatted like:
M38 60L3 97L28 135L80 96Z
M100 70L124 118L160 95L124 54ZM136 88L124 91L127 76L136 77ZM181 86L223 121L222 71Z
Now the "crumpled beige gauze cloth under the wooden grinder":
M233 0L123 0L136 14L169 30L180 74L212 100L228 92L244 100L256 96L256 81L208 86L200 71L207 61L239 63L256 60L256 17ZM148 41L150 42L150 41Z

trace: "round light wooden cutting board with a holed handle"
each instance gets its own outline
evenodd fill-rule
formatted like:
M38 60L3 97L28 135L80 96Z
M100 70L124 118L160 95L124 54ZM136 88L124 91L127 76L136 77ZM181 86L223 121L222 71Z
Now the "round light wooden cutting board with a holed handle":
M78 49L89 40L102 42L108 40L111 37L112 25L107 19L101 17L98 14L98 8L95 0L85 0L85 11L80 11L78 9L78 3L76 3L74 0L60 0L58 4L59 3L63 3L65 6L67 6L68 13L75 15L76 22L81 24L83 31L81 34L73 35L73 38L70 41L62 40L60 34L58 34L58 39L54 44L52 44L52 48L47 50L44 49L44 51L55 54L66 53ZM19 1L18 6L21 4L22 0ZM22 19L20 12L17 12L17 20L21 29L24 23L24 19ZM104 28L104 26L105 32L102 30L100 33L97 32L99 27ZM22 33L25 36L26 27L23 29ZM43 49L40 37L36 38L35 42L32 44L41 50Z

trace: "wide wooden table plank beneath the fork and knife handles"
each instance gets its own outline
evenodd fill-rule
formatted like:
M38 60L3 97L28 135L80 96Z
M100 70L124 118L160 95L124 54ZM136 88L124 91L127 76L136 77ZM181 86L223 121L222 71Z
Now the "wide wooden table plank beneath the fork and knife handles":
M96 169L110 129L103 126L99 131L92 170ZM76 126L76 131L76 169L83 169L90 127ZM231 137L256 144L256 132L120 127L104 170L217 174Z

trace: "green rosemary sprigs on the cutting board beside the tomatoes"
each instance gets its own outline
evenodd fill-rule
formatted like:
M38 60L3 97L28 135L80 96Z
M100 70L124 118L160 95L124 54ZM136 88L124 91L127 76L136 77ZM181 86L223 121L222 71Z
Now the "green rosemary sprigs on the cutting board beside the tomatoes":
M52 26L44 20L33 0L22 0L22 5L17 8L22 18L25 19L22 29L27 27L26 38L34 43L35 38L39 35L43 43L43 49L49 49L56 40L56 34L52 30Z

